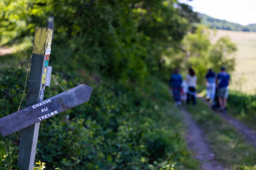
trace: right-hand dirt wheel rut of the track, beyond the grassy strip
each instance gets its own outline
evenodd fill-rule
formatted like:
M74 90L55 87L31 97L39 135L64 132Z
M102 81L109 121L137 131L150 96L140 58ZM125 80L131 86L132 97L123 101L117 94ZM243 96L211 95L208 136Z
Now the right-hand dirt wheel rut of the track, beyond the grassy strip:
M209 107L210 103L208 103L204 97L198 97L202 101L204 101ZM237 119L231 117L228 113L220 113L216 111L225 121L229 122L231 126L236 128L238 132L246 139L247 142L252 144L256 148L256 131L247 127L242 122L239 122Z

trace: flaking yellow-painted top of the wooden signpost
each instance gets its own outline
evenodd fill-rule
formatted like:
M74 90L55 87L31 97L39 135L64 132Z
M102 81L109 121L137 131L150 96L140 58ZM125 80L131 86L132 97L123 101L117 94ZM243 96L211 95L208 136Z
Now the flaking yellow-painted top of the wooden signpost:
M36 55L44 55L47 43L51 43L52 29L44 27L35 27L35 40L33 52Z

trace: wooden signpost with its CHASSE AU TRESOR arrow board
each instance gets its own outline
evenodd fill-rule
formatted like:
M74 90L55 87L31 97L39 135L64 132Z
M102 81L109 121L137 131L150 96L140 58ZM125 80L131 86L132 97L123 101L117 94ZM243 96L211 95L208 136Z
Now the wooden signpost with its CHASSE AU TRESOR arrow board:
M22 170L32 170L34 167L40 122L87 102L92 93L90 86L79 85L43 100L46 80L49 79L47 70L51 40L52 29L36 27L26 108L0 119L0 131L3 136L22 130L18 157L18 166Z

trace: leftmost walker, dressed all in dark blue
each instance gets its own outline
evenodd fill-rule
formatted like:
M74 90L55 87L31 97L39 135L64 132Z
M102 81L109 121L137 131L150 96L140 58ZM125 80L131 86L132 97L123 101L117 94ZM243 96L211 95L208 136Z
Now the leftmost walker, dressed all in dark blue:
M175 105L181 105L180 101L180 90L181 90L182 76L179 70L176 68L174 73L170 76L169 88L172 89L173 98Z

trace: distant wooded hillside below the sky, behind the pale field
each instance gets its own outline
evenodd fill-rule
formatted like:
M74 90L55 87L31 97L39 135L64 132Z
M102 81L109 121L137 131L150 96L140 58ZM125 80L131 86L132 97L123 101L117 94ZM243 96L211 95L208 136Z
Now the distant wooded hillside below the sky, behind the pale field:
M198 13L198 18L201 18L201 23L205 26L209 26L210 28L216 28L218 30L256 32L256 24L242 26L238 23L228 22L222 19L216 19L200 13Z

